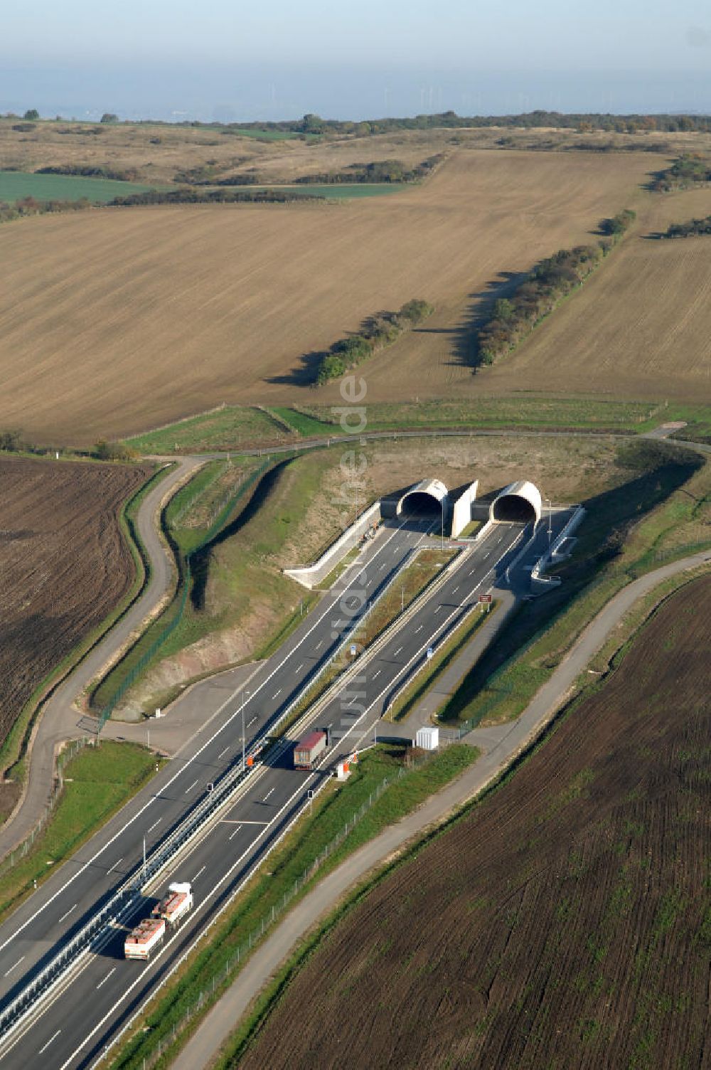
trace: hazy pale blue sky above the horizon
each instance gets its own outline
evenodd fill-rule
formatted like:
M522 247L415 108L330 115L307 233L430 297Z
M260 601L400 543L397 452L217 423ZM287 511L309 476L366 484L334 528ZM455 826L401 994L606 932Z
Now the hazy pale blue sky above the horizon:
M34 0L7 4L0 111L333 119L711 112L708 0Z

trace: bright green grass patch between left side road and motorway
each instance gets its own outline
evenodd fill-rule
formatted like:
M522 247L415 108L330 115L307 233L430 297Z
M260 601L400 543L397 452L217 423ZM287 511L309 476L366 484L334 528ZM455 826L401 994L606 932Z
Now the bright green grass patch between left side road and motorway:
M135 795L155 767L150 750L128 743L105 740L72 758L51 817L28 853L0 876L0 920Z

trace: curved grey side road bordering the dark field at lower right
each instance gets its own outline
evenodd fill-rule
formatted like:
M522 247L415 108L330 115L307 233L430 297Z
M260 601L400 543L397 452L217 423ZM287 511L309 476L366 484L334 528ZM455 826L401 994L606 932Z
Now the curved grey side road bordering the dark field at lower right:
M499 737L492 730L475 729L467 742L489 746L481 758L447 788L433 795L419 809L391 825L374 840L364 844L346 861L306 896L257 949L249 966L235 979L215 1004L200 1027L172 1064L172 1070L198 1070L207 1067L232 1033L251 1002L284 962L310 929L333 910L339 899L374 867L386 861L409 840L447 819L478 795L552 720L569 698L571 688L590 659L603 645L635 601L663 580L678 572L711 562L711 551L671 562L663 568L634 580L623 587L579 636L553 676L538 691L521 717L501 725ZM485 738L484 738L485 733Z

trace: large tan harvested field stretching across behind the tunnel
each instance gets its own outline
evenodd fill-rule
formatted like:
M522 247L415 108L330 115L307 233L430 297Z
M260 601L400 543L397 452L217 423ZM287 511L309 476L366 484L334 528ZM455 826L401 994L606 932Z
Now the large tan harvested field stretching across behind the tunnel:
M421 186L349 204L119 209L9 224L0 426L88 443L221 401L303 397L305 354L413 296L451 323L452 309L501 271L587 241L602 216L647 198L639 186L652 163L462 150ZM400 346L373 362L388 399L416 394L420 372L431 395L462 381L478 389L458 356L437 367L439 330L432 320L417 333L431 346L424 366L411 366Z

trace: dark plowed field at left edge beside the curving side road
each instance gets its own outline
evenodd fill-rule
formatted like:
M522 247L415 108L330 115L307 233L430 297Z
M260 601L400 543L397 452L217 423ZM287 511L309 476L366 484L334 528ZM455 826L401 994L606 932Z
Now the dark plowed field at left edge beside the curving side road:
M118 514L148 471L0 458L0 743L43 677L127 591Z

